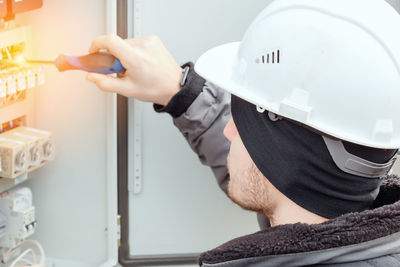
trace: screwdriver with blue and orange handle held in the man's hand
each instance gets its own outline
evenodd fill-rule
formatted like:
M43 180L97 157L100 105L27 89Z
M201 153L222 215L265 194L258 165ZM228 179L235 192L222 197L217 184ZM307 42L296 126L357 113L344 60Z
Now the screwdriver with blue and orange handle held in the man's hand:
M83 70L101 74L124 72L119 59L106 52L97 52L83 56L59 55L55 61L27 60L28 63L54 64L59 71Z

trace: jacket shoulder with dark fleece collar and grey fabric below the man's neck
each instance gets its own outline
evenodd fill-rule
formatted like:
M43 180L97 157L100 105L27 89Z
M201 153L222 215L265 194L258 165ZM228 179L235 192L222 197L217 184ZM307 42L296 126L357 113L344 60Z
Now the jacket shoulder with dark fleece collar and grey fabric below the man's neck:
M234 239L202 266L400 266L400 179L385 179L371 210L323 224L282 225Z

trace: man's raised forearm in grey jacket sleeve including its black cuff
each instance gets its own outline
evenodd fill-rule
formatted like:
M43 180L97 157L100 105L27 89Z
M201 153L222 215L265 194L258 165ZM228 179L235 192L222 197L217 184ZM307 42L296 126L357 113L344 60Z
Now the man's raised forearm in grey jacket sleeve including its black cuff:
M229 174L227 155L230 142L223 129L231 117L230 95L207 83L191 66L191 73L182 90L167 106L155 105L157 112L167 112L175 126L187 139L200 161L211 167L218 184L226 193Z

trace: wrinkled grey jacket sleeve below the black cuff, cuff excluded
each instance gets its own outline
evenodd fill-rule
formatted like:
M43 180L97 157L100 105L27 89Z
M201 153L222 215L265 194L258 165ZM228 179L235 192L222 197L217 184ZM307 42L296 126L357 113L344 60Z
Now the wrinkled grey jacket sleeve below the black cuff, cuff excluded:
M230 94L206 82L202 93L186 112L174 119L175 126L197 153L201 163L211 167L225 193L229 181L227 156L230 142L223 135L223 130L230 118Z

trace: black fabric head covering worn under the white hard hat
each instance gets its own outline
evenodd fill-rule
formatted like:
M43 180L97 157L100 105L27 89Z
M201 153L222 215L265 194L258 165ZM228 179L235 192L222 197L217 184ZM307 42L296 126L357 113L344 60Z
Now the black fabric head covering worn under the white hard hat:
M272 121L268 112L260 113L255 105L233 95L231 108L239 135L257 168L299 206L332 219L372 205L382 179L340 170L320 134L287 119ZM345 147L361 157L364 153L362 146L345 143ZM372 154L378 154L380 161L390 160L396 152L371 148L368 153L371 151L379 152Z

